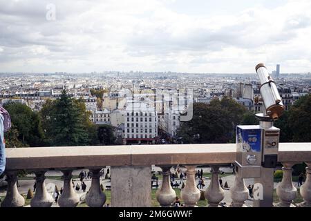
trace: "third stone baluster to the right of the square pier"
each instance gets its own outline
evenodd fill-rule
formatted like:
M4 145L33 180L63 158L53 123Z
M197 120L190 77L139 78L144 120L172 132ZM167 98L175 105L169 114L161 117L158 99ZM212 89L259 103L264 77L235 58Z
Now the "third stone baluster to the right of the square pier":
M218 207L218 204L225 197L225 193L219 184L219 166L211 166L211 182L205 191L205 198L209 207Z

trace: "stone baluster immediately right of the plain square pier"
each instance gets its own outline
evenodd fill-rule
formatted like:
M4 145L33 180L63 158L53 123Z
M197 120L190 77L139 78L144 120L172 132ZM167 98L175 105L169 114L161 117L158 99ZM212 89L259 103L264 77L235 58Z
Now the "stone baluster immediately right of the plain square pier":
M162 186L156 193L156 198L162 207L169 207L176 198L176 193L171 187L171 166L161 166L162 168Z

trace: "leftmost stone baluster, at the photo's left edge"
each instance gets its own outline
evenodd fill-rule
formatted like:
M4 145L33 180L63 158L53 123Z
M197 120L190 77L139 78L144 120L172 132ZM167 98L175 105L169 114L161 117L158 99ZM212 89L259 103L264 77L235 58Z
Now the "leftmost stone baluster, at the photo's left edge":
M1 202L1 207L23 207L25 199L17 189L17 171L7 171L6 181L8 182L8 189L6 197Z

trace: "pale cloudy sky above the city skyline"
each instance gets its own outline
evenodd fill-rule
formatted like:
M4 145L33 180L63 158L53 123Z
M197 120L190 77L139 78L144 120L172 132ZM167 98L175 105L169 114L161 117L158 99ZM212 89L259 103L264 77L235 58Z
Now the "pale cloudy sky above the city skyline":
M0 73L254 73L261 62L311 71L310 0L0 0Z

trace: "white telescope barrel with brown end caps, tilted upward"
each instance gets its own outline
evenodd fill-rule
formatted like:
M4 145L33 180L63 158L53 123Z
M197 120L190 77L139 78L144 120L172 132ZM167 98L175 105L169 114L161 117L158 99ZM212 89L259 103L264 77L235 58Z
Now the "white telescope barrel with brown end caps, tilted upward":
M256 66L256 73L261 82L260 92L265 104L266 114L272 117L274 120L281 117L284 112L284 105L282 103L279 91L270 75L267 73L267 68L264 64L258 64Z

